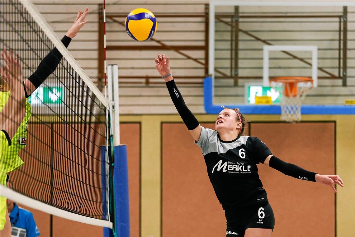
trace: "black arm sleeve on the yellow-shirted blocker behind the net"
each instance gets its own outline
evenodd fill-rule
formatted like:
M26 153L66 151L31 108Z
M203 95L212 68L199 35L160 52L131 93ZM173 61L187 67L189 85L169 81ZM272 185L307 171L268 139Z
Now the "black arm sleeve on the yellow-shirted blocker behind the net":
M61 42L67 48L71 38L64 36L61 39ZM62 54L58 51L57 48L52 49L47 56L40 62L37 70L28 77L28 80L32 82L32 84L38 88L47 77L54 72L57 68L60 60L62 59Z

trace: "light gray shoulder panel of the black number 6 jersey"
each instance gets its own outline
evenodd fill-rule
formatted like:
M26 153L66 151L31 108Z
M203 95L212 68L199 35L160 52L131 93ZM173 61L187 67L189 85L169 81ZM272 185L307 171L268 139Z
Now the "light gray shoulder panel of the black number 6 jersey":
M200 146L203 155L216 151L218 153L226 153L228 150L234 149L242 144L245 145L248 138L249 136L240 136L240 138L234 142L224 143L219 141L217 131L201 127L201 136L196 144Z

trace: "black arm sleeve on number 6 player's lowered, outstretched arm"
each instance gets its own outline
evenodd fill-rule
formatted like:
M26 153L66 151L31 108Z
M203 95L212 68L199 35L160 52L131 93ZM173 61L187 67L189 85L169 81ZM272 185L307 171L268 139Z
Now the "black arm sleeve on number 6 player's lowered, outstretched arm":
M294 164L284 162L276 156L272 156L270 158L269 166L296 179L304 179L316 182L316 173L302 169L301 167Z

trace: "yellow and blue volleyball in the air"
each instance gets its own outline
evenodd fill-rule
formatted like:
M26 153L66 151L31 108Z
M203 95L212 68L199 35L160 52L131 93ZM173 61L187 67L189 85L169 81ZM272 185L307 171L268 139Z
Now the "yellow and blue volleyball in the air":
M144 8L137 8L125 20L127 34L136 41L146 41L157 31L158 22L154 14Z

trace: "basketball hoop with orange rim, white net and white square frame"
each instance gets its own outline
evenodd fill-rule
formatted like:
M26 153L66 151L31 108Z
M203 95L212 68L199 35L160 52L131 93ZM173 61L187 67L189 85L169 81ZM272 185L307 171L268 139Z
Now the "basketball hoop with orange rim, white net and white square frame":
M282 86L280 97L281 120L295 123L301 121L301 106L304 99L313 87L317 87L317 46L299 45L264 45L263 47L263 85L275 87ZM269 77L270 51L299 51L312 53L312 78L300 76Z

